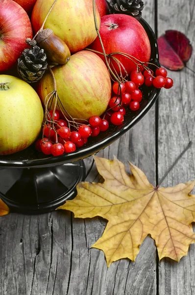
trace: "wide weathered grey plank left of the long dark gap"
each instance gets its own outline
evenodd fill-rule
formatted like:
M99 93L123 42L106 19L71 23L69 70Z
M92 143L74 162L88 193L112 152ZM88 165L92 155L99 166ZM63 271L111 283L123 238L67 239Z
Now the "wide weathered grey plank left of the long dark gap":
M154 0L143 17L154 28ZM99 156L116 155L138 165L155 184L155 108ZM88 169L92 158L85 160ZM88 181L99 179L95 165ZM147 237L136 262L121 260L108 269L103 252L90 249L102 235L101 218L74 219L70 212L0 218L2 295L156 295L156 249Z

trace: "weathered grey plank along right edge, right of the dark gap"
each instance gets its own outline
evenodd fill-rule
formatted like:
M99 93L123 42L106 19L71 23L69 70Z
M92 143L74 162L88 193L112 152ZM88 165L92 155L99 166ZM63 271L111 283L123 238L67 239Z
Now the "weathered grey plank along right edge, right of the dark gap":
M195 48L195 1L158 1L158 33L167 29L177 29L185 33ZM195 65L195 52L188 62ZM159 100L159 141L158 175L161 179L175 158L184 150L195 135L195 88L194 74L183 69L169 71L174 79L174 87L163 89ZM195 145L182 156L163 186L174 186L180 182L195 179ZM195 294L195 245L191 245L189 255L180 263L163 259L159 264L159 295Z

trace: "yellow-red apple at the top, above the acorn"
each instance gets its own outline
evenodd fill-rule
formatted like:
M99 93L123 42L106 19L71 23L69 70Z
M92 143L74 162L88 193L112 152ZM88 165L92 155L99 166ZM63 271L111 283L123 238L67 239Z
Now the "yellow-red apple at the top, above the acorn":
M42 26L53 0L37 0L32 11L34 32ZM98 28L100 15L96 5ZM97 37L92 0L58 0L44 26L52 29L69 47L71 53L80 51Z

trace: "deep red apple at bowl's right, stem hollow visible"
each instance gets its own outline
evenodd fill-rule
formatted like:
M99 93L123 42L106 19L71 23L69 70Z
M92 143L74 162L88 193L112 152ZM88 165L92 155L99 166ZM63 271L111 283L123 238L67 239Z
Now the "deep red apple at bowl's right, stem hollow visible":
M106 54L122 52L139 59L150 59L150 43L145 29L135 18L125 14L110 14L101 18L100 35ZM98 37L90 45L91 49L102 52ZM102 55L101 59L105 60ZM129 74L136 70L136 64L122 55L114 55L119 59ZM112 60L113 62L113 60ZM120 73L119 66L113 62L115 69ZM124 71L122 70L124 74Z

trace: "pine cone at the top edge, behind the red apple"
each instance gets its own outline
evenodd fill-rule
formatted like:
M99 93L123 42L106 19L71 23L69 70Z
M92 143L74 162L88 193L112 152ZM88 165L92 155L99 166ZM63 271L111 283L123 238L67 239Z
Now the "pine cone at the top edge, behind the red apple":
M137 19L142 17L144 2L141 0L107 0L112 13L124 13Z

